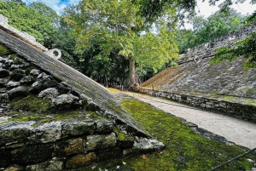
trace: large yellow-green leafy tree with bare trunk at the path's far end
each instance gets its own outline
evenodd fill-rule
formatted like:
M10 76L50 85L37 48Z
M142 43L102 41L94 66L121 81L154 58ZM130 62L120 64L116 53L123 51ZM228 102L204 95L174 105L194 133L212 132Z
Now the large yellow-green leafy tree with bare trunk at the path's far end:
M108 59L118 53L130 61L130 85L136 82L136 70L145 66L157 71L166 62L178 57L174 40L174 11L167 10L164 17L152 23L138 14L138 7L131 0L83 0L77 13L66 18L73 26L77 49L83 53L96 42L101 52L98 59ZM150 29L154 29L153 31Z

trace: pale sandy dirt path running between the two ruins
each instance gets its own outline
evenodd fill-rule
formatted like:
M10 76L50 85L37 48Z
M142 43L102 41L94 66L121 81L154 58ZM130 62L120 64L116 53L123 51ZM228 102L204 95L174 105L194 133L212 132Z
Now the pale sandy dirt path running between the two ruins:
M243 145L250 149L256 147L256 123L249 123L235 117L228 117L209 111L191 109L191 106L182 105L171 100L163 100L146 94L135 94L131 92L125 92L125 94L130 94L138 100L148 102L162 111L166 111L177 117L183 117L188 122L195 123L200 128L205 128L214 134L221 135L227 140L236 143L236 145Z

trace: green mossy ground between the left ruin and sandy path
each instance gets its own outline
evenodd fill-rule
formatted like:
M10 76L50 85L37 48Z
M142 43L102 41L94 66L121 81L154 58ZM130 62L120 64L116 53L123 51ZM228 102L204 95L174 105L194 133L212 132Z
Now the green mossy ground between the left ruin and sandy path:
M125 158L127 170L173 170L173 171L205 171L228 161L245 152L239 146L225 145L223 143L206 140L183 124L177 117L168 116L164 111L155 109L153 106L137 100L125 100L122 106L126 111L148 129L151 134L166 145L164 151L157 151L152 154L145 154L147 158L141 156ZM247 162L247 158L253 160L255 156L247 155L238 161L231 162L218 171L226 170L247 170L253 168L253 163ZM122 160L102 163L96 168L87 170L98 170L106 168L116 170L116 164L124 167ZM124 169L125 170L125 169Z

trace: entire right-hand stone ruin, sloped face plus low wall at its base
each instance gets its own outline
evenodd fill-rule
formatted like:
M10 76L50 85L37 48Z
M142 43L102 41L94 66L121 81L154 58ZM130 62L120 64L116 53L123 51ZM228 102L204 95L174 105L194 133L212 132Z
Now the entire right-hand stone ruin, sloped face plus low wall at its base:
M244 70L243 57L209 65L216 48L234 48L254 31L256 22L189 48L178 66L161 71L134 90L256 123L256 69Z

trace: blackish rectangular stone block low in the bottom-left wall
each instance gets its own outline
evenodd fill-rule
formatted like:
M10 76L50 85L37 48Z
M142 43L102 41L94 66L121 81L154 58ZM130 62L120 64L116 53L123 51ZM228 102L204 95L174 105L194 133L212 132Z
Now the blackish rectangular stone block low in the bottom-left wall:
M50 159L53 151L52 144L24 146L11 151L12 162L19 164L42 162Z

